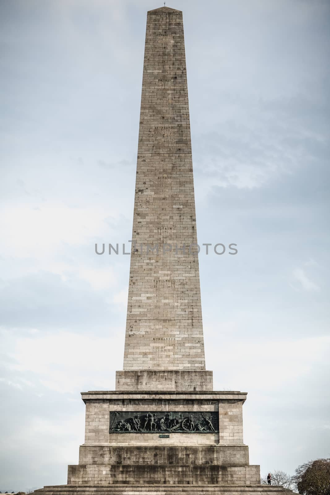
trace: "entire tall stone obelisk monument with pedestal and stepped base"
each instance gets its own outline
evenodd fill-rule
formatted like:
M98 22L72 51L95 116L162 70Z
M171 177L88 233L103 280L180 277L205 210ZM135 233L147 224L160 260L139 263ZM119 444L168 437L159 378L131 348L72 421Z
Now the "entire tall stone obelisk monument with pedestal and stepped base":
M213 391L205 370L184 28L169 7L147 14L132 241L116 390L82 393L79 464L36 493L283 494L249 464L246 393Z

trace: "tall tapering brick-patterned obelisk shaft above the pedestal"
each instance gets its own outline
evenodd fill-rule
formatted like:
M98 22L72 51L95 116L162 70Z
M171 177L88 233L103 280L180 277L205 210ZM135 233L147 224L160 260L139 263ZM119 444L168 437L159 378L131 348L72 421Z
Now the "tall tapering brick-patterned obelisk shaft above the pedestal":
M147 14L132 240L124 370L204 370L184 28L169 7Z

